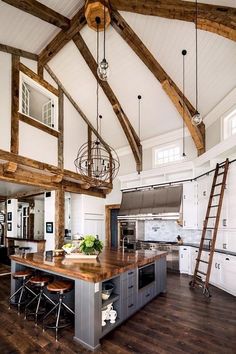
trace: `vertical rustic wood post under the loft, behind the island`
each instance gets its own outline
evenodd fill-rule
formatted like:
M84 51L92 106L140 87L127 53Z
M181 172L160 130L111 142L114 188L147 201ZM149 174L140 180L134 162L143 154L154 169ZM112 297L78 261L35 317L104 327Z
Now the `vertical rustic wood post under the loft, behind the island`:
M62 188L55 192L55 248L64 244L65 236L65 192Z

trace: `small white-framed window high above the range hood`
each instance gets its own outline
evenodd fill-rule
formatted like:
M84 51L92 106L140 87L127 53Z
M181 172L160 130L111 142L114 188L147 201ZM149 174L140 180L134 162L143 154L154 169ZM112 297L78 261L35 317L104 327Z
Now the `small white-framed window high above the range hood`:
M154 166L181 160L180 146L168 145L162 148L154 148Z

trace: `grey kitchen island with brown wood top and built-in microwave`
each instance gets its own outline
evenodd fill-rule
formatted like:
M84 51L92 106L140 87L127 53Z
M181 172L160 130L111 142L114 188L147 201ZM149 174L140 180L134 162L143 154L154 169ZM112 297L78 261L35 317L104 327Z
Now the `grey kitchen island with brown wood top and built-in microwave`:
M166 291L166 252L105 249L97 260L53 257L52 252L11 256L12 272L37 269L74 281L74 340L95 350L100 339L133 315L147 302ZM111 282L114 291L102 300L102 285ZM11 292L16 289L12 279ZM102 309L112 304L115 323L102 326Z

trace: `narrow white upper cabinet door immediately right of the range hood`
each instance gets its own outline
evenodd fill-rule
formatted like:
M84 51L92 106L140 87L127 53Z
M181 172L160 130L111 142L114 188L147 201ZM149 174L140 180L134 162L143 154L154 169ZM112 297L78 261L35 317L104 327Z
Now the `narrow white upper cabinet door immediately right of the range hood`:
M197 185L196 182L183 184L183 228L197 228Z

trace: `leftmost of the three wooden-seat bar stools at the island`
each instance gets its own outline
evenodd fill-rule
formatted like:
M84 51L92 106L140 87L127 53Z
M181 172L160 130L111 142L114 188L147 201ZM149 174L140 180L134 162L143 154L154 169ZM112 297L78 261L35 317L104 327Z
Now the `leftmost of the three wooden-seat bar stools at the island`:
M9 309L11 308L11 305L17 305L18 315L20 314L21 305L24 305L26 303L26 301L22 300L23 295L27 294L27 293L31 294L33 296L36 295L35 292L27 286L27 283L29 282L29 278L31 277L31 275L32 275L32 272L30 270L20 270L20 271L12 274L12 277L14 279L22 280L22 285L9 298ZM18 301L12 302L11 300L13 298L15 298L15 296L18 293L19 293Z

